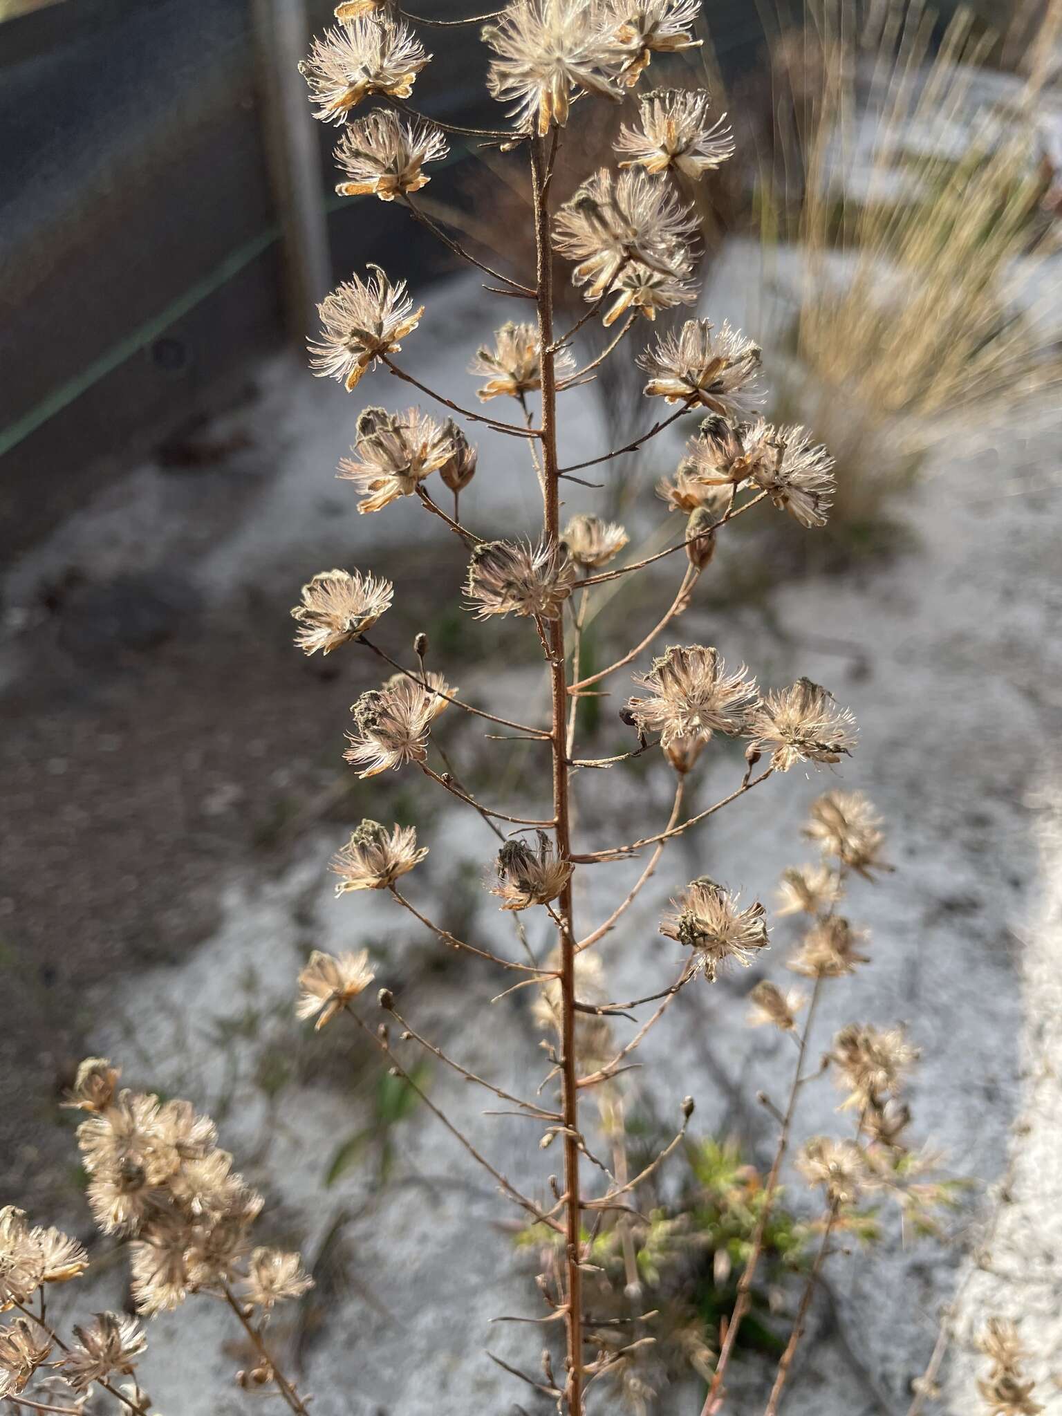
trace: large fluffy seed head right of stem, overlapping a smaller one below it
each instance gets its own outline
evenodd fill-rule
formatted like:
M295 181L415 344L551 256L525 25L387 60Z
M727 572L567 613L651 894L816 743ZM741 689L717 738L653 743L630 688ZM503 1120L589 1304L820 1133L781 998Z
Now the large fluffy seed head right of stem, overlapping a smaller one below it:
M596 300L630 262L688 279L695 231L692 208L666 183L640 170L615 177L602 167L558 211L554 246L578 262L572 280L586 286L588 300Z

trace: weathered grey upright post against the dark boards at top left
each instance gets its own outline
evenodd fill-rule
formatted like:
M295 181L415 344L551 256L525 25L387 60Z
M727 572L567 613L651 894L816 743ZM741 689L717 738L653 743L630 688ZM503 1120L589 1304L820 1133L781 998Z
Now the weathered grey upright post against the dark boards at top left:
M251 0L259 106L285 268L285 316L300 346L331 289L317 132L297 65L310 47L306 0Z

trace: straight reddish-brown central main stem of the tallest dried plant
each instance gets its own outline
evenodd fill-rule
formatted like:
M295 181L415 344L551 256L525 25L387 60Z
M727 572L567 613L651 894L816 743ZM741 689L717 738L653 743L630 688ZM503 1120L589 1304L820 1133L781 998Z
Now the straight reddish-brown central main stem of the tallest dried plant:
M542 139L531 139L531 180L535 212L535 253L538 262L537 306L538 338L542 361L542 534L548 544L561 538L561 480L556 457L556 372L554 368L554 259L549 245L549 198L547 163ZM554 818L556 821L556 854L568 860L572 854L568 814L568 674L565 668L564 619L558 616L547 626L549 651L549 687L552 697L552 758L554 758ZM565 1331L568 1337L569 1416L582 1416L582 1272L581 1189L579 1189L579 1087L575 1065L575 930L572 927L572 886L565 886L558 902L562 920L558 929L561 947L561 1076L565 1194Z

